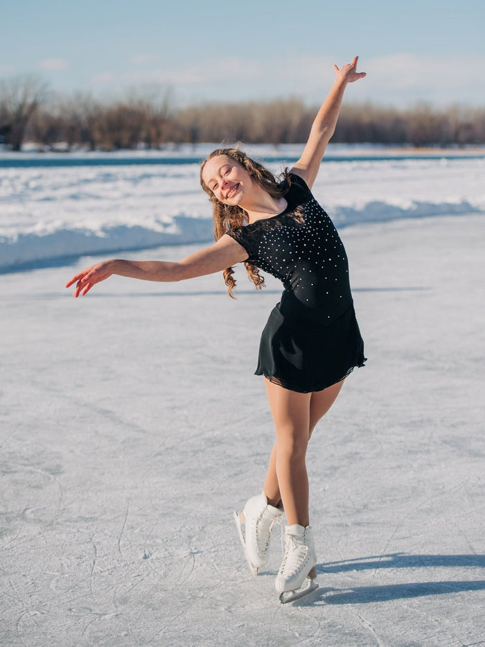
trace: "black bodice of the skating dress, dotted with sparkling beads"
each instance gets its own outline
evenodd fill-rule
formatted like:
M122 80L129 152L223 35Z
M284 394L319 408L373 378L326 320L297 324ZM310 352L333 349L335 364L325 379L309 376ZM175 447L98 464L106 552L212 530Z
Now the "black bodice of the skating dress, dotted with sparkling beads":
M332 322L349 305L349 264L330 217L298 175L290 175L286 209L228 234L247 261L281 280L281 312Z

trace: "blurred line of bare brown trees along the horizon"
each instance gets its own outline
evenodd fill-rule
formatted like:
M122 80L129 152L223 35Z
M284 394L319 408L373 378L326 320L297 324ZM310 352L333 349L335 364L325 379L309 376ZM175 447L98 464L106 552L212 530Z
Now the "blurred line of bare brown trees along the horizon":
M89 94L49 96L38 78L0 81L0 143L21 150L161 148L168 143L306 141L318 106L299 98L175 107L167 90L132 92L106 103ZM485 144L485 106L418 104L398 110L344 105L332 141L339 144L466 146Z

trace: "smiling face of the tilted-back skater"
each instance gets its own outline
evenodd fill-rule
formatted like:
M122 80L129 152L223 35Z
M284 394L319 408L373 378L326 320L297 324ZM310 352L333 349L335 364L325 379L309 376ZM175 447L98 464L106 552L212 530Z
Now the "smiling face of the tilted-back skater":
M241 205L254 191L254 180L244 166L227 155L211 157L202 170L202 180L224 205Z

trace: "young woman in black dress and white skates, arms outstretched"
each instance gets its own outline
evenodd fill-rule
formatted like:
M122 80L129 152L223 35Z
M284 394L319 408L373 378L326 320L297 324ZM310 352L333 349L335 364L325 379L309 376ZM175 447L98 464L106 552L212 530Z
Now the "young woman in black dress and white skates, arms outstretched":
M283 295L263 330L256 369L265 377L276 442L263 492L249 499L236 517L247 560L257 573L267 562L272 529L284 510L285 554L276 577L281 596L297 591L306 578L308 589L316 586L306 449L346 376L365 361L344 246L310 192L346 85L365 76L357 71L357 62L355 57L341 69L334 66L335 82L303 154L281 180L237 148L220 148L205 160L200 175L213 204L214 245L177 263L102 261L67 284L76 283L78 297L113 274L168 282L223 270L231 295L232 266L240 262L256 287L263 284L258 268L281 279Z

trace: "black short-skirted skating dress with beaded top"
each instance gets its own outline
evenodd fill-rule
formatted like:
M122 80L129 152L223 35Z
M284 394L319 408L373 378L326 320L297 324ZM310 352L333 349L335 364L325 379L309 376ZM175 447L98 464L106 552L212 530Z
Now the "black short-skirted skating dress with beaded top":
M290 180L281 214L227 233L285 288L261 334L256 375L308 393L341 381L366 358L344 245L306 182Z

